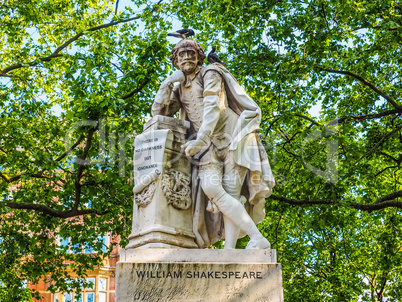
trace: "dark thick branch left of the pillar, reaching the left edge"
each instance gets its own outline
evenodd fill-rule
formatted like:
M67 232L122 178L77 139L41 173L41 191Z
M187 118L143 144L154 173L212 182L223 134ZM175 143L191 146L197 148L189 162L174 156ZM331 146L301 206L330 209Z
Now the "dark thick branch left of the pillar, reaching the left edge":
M110 211L97 212L96 210L92 210L92 209L57 211L48 206L45 206L42 204L36 204L36 203L4 202L3 204L12 209L34 210L35 212L39 212L39 213L50 215L52 217L59 217L59 218L70 218L70 217L88 215L88 214L105 215L110 212Z

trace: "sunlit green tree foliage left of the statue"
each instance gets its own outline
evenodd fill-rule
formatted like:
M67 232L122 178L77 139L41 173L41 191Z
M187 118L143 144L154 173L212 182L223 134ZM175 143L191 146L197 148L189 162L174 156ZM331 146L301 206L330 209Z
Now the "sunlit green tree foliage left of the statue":
M69 272L85 275L112 250L99 236L125 245L132 134L170 68L162 9L0 2L1 301L27 299L24 282L41 276L53 291L80 287Z

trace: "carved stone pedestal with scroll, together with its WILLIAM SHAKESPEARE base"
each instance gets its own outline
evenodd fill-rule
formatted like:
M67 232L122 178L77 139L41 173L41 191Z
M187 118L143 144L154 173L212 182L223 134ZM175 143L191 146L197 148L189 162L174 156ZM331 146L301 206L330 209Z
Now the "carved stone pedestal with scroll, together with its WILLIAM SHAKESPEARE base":
M135 139L133 227L116 301L283 302L275 250L198 249L191 164L180 150L189 126L156 116Z

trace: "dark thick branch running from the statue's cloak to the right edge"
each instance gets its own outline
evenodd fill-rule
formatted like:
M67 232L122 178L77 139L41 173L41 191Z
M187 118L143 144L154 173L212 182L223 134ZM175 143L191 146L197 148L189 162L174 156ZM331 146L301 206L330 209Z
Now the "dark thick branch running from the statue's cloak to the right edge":
M402 209L402 202L394 200L398 197L402 197L402 191L397 191L394 193L391 193L387 196L384 196L382 198L379 198L376 202L371 203L371 204L362 204L362 203L357 203L357 202L350 202L350 206L356 210L362 210L362 211L376 211L376 210L382 210L385 208L398 208ZM272 194L269 198L281 202L285 202L290 205L296 205L296 206L309 206L309 205L340 205L339 203L331 200L331 199L308 199L308 200L299 200L299 199L293 199L293 198L287 198L284 196L278 196Z

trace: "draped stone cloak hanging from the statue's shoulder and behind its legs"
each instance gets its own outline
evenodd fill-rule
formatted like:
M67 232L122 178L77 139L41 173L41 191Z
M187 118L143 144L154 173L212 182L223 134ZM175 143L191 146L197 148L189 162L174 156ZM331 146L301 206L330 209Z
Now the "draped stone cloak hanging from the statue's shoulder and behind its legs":
M211 64L201 70L202 75L209 70L214 70L222 76L228 106L239 116L231 136L229 152L233 152L236 164L248 170L242 195L247 199L245 208L250 217L255 223L259 223L265 217L265 198L271 195L275 185L267 153L257 133L261 122L261 109L223 65ZM207 247L224 239L222 213L206 210L209 200L201 189L197 166L194 166L192 171L192 199L193 232L198 246Z

